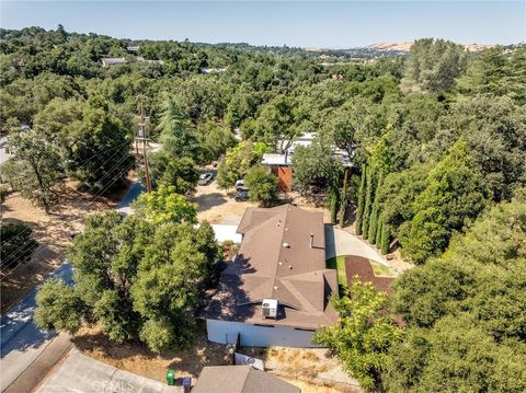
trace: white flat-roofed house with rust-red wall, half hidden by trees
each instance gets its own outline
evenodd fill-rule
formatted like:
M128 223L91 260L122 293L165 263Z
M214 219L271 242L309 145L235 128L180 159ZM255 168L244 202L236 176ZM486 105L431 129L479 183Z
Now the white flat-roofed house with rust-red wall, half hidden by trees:
M279 183L278 187L282 192L289 192L293 188L293 155L294 150L298 146L310 146L316 138L316 132L306 132L295 139L290 147L285 150L283 154L279 153L265 153L263 154L262 164L268 166L271 172L277 176ZM285 146L288 145L288 141L284 142ZM277 148L276 148L277 149ZM334 158L339 159L342 162L343 166L351 166L351 160L348 153L342 149L333 149Z

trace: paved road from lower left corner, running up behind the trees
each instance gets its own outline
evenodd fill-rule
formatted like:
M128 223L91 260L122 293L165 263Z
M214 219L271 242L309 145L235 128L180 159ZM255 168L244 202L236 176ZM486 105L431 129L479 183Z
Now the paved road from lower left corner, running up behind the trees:
M141 193L135 182L121 201L118 208L129 205ZM66 282L72 280L71 265L61 264L52 275ZM34 321L36 288L31 290L16 305L1 316L0 325L0 390L3 392L27 367L46 350L57 335L56 332L39 330Z

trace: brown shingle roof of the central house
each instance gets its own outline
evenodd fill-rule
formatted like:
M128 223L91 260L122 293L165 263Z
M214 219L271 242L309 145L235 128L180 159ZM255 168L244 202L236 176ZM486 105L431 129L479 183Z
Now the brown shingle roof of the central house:
M238 258L222 271L207 317L312 330L335 321L328 300L338 280L335 270L325 268L323 213L293 205L249 208L238 232L243 234ZM282 304L277 320L263 320L263 299Z

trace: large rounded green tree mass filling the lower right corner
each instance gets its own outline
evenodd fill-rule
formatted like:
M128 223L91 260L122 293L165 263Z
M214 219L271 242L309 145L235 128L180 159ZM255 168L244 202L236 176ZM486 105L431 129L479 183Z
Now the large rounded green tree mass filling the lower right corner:
M409 331L391 354L389 391L524 391L525 240L523 189L400 278L395 309Z

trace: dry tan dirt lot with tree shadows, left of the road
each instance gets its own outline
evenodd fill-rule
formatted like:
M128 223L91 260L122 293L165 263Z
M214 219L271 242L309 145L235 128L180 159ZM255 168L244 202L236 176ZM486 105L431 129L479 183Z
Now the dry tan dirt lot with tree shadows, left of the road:
M22 198L19 193L9 194L1 207L2 221L30 226L39 245L30 262L20 264L14 269L7 266L0 270L1 312L8 310L64 262L71 235L82 229L87 215L114 207L115 200L119 200L125 189L126 186L112 195L111 199L100 198L93 203L92 196L79 195L66 186L59 194L59 203L49 215Z

